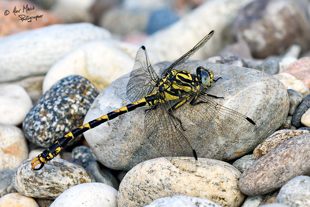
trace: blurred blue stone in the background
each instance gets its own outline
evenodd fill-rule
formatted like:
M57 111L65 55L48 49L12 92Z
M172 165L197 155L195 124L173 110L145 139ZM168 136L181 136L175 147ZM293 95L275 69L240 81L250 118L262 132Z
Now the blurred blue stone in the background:
M148 24L146 26L146 33L153 34L158 30L172 25L178 20L179 16L173 10L168 8L159 8L150 14Z

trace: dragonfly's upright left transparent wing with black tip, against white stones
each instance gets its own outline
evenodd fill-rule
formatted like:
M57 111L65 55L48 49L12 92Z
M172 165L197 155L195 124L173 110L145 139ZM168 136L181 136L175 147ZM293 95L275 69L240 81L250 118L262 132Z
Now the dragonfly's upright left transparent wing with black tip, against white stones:
M130 74L127 84L127 97L131 102L135 102L152 93L156 85L158 76L152 68L148 59L148 53L144 46L140 47L135 64Z

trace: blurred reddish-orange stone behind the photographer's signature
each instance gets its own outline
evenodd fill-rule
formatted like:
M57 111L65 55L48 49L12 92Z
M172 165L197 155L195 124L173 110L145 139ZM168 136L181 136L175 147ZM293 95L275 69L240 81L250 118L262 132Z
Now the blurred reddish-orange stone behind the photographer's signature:
M46 1L44 1L46 2ZM28 5L28 8L33 8L33 10L23 12L23 8ZM37 21L32 20L31 23L25 24L25 22L20 21L20 17L18 15L13 14L14 7L17 8L17 10L21 9L21 15L25 16L37 16L37 15L43 15L42 18L39 18ZM2 0L0 5L0 10L6 11L8 10L10 13L8 15L1 15L0 16L0 22L2 23L0 25L0 37L15 34L19 32L23 32L25 30L29 29L36 29L39 27L44 27L47 25L53 25L53 24L61 24L63 21L60 20L60 18L51 13L50 11L43 10L42 8L38 7L36 4L34 4L31 1L8 1L8 0ZM27 22L28 23L28 22Z

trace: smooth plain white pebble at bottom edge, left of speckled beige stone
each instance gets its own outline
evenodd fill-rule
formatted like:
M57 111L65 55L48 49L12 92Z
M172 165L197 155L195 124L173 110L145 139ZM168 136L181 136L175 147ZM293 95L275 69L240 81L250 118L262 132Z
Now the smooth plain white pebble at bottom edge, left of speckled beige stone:
M60 194L50 207L86 205L117 207L117 190L99 182L79 184Z

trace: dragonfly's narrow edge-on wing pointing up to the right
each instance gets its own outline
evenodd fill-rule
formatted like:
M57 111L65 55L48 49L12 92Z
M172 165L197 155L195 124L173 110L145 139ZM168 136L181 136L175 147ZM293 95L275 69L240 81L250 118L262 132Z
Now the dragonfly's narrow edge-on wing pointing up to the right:
M200 40L199 43L197 43L197 45L195 45L195 47L193 47L193 49L191 49L190 51L188 51L187 53L185 53L182 57L180 57L177 61L175 61L174 63L172 63L163 73L162 73L162 77L166 76L166 73L170 70L172 70L172 68L174 68L177 65L180 65L182 63L184 63L184 61L188 60L188 58L190 56L192 56L200 47L202 47L214 34L214 30L212 30L206 37L204 37L202 40Z

